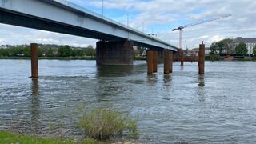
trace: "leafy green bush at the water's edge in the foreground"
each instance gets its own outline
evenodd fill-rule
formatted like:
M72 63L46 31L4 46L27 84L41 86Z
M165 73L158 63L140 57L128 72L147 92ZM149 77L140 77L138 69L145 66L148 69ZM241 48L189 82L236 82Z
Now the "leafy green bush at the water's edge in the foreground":
M94 139L107 140L114 136L137 136L138 122L128 118L120 110L98 107L90 110L88 106L79 122L85 134Z

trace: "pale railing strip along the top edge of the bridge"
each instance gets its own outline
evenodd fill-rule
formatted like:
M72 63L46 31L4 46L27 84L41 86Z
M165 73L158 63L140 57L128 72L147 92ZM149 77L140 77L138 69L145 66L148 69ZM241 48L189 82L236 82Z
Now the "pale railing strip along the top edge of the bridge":
M74 4L73 2L70 2L70 1L68 1L68 0L52 0L52 1L61 3L62 5L65 5L65 6L69 6L70 8L73 8L73 9L79 10L79 11L82 11L82 12L84 12L84 13L86 13L86 14L93 15L94 17L104 19L104 20L106 20L107 22L114 23L114 24L116 24L116 25L118 25L118 26L121 26L121 27L124 27L124 28L126 28L126 29L128 29L128 30L130 30L130 31L134 31L134 32L136 32L136 33L138 33L138 34L142 34L142 35L144 35L144 36L146 36L146 37L150 37L150 38L154 39L155 41L162 42L162 43L165 43L166 45L172 46L172 45L171 45L170 43L168 43L168 42L164 42L164 41L162 41L162 40L160 40L160 39L158 39L158 38L154 38L153 36L150 36L150 35L148 35L148 34L143 33L142 31L136 30L136 29L134 29L134 28L132 28L132 27L130 27L130 26L126 26L126 25L122 24L121 22L114 21L114 20L111 19L111 18L107 18L107 17L105 17L105 16L102 15L102 14L98 14L98 13L96 13L96 12L94 12L94 11L92 11L92 10L88 10L88 9L82 7L82 6L78 6L78 5L76 5L76 4ZM175 46L172 46L172 47L176 48Z

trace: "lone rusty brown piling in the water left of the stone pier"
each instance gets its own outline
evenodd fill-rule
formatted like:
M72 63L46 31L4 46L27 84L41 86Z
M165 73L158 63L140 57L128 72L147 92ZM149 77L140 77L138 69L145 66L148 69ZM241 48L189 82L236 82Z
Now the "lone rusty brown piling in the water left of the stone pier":
M38 78L38 44L31 43L31 78Z

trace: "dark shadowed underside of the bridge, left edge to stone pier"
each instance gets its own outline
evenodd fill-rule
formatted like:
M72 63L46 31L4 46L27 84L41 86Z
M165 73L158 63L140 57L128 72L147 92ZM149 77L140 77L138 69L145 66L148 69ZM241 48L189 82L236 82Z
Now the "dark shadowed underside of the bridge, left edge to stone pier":
M114 37L113 35L102 34L92 30L82 29L78 26L70 26L61 22L54 22L43 18L36 18L31 15L14 13L12 11L0 8L0 22L14 25L29 27L32 29L52 31L62 34L71 34L86 38L102 39L106 41L120 41L123 38Z

